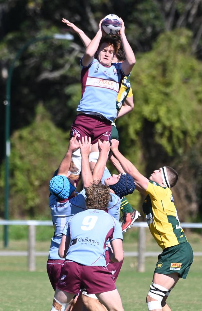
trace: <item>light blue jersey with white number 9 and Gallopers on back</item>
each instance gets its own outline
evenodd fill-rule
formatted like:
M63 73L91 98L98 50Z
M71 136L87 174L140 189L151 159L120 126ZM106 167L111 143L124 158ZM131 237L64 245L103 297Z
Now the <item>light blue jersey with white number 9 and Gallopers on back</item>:
M88 209L67 221L62 232L70 236L66 259L85 266L104 266L106 241L123 239L120 223L103 210Z

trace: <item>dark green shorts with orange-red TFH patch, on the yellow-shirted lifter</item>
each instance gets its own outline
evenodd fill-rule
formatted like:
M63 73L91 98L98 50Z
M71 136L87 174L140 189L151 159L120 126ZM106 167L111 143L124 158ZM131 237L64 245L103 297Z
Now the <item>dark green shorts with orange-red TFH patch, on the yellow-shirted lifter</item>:
M193 250L188 242L167 247L158 255L154 273L170 274L177 272L181 278L186 279L193 257Z

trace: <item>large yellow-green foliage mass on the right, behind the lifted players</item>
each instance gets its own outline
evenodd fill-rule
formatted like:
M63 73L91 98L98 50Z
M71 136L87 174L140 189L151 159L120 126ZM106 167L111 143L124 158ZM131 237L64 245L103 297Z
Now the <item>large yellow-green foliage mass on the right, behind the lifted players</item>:
M136 140L148 120L168 155L183 154L201 133L202 65L191 55L190 41L184 29L160 35L151 52L139 55L130 79L135 107L126 116L127 133Z

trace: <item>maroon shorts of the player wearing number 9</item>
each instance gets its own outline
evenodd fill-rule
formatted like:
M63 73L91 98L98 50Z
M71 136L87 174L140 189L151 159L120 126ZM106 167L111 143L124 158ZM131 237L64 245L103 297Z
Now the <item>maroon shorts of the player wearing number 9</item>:
M87 294L98 294L115 290L116 286L106 267L84 266L66 260L62 266L57 288L71 294L77 294L85 288Z

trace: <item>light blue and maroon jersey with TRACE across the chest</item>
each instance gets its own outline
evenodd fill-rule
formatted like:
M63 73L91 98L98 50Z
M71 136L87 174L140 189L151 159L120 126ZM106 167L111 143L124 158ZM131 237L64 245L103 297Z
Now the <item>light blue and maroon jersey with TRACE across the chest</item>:
M113 122L116 118L117 95L124 76L121 63L112 63L108 67L94 58L89 66L81 65L81 100L76 110L95 112Z

